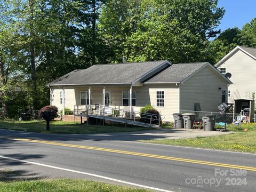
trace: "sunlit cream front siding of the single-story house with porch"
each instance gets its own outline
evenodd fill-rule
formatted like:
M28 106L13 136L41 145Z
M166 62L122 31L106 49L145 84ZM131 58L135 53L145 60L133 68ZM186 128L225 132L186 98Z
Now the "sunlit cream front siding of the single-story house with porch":
M52 87L53 97L52 105L62 109L60 104L60 89L59 87ZM81 105L81 91L88 91L89 87L75 87L75 88L65 88L66 91L66 105L65 107L74 109L75 105ZM122 107L122 91L129 91L129 86L106 86L106 91L110 91L111 106ZM139 111L141 107L145 105L152 105L161 115L164 116L163 121L173 121L172 114L179 111L179 89L175 85L144 85L144 86L134 86L133 91L137 94L137 105L133 107L134 111ZM91 86L92 91L92 105L95 103L103 105L103 87L102 86ZM165 106L156 106L156 91L165 92Z

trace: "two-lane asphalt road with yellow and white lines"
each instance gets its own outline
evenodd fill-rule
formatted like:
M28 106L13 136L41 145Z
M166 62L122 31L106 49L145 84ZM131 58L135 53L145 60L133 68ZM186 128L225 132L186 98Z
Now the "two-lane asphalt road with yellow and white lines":
M254 154L151 145L127 141L127 135L0 130L0 166L38 177L92 179L162 191L256 191Z

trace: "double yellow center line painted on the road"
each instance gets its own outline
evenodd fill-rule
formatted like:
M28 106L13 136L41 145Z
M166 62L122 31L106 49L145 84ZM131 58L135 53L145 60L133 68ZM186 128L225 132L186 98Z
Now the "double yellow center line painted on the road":
M44 141L44 140L33 140L33 139L26 139L26 138L11 138L11 137L3 137L3 136L0 136L0 138L11 139L11 140L16 140L16 141L43 143L43 144L47 144L47 145L55 145L55 146L63 146L63 147L73 147L73 148L80 148L80 149L106 151L106 152L110 152L110 153L134 155L134 156L141 156L141 157L166 159L166 160L170 160L170 161L178 161L178 162L187 162L187 163L195 163L195 164L202 164L202 165L219 166L219 167L226 167L226 168L233 168L233 169L243 169L243 170L247 170L247 171L256 171L256 167L250 167L250 166L241 166L241 165L233 165L233 164L225 164L225 163L198 161L198 160L187 159L187 158L178 158L178 157L170 157L170 156L162 156L162 155L137 153L137 152L125 151L125 150L115 150L115 149L108 149L108 148L99 148L99 147L89 147L89 146L73 145L73 144L51 142L51 141Z

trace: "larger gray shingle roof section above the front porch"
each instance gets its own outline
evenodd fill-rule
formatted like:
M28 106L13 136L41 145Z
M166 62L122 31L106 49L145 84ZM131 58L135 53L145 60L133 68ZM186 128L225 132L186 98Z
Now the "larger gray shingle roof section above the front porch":
M93 65L74 70L49 85L128 84L155 69L166 61L148 61Z

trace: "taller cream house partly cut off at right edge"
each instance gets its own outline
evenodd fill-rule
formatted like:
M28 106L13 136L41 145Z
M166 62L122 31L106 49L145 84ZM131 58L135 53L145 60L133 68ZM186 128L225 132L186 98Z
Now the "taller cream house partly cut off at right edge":
M216 65L223 75L231 77L228 87L228 103L234 103L235 113L241 109L254 108L256 92L256 48L237 46Z

